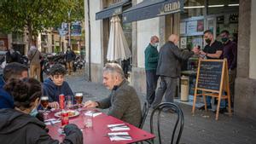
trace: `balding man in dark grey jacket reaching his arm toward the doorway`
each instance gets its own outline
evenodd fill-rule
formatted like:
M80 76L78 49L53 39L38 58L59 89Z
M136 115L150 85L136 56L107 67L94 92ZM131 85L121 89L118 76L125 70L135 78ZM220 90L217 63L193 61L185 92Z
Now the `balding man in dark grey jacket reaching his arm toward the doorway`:
M168 42L160 48L160 56L156 69L156 74L160 76L160 87L157 89L153 108L157 107L165 95L166 102L173 102L176 95L177 78L180 77L181 60L187 60L194 54L199 54L199 49L192 49L192 51L182 51L178 49L179 37L172 34L168 38Z

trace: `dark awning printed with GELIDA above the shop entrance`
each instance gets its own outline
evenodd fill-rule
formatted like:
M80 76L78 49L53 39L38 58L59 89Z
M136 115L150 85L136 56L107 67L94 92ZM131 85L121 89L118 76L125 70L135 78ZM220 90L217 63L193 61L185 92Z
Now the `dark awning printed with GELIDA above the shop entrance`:
M123 22L151 19L183 11L183 0L144 0L123 12Z

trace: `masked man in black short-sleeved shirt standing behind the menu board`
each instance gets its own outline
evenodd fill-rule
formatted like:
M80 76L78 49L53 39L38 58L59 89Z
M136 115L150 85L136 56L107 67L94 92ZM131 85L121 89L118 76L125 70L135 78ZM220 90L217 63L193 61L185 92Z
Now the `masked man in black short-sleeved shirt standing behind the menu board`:
M207 56L207 59L222 59L223 44L214 39L211 30L207 30L204 32L204 39L207 45L205 46L205 49L201 51L201 55ZM212 109L211 100L212 97L207 96L207 109ZM225 100L221 100L219 112L223 113L225 111L225 107ZM204 109L204 107L202 107L202 109Z

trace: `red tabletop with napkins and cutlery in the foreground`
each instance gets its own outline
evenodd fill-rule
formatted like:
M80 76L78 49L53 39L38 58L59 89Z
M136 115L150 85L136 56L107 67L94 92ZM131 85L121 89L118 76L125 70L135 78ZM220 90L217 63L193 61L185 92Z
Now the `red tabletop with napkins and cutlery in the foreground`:
M54 117L54 112L49 113L49 118ZM84 135L84 144L121 144L121 143L133 143L137 141L144 141L148 139L154 138L154 135L148 133L147 131L138 129L137 127L127 124L117 118L113 118L112 116L108 116L105 113L102 113L99 116L93 118L93 128L88 129L83 126L83 118L81 114L76 118L69 118L70 124L77 124L80 129L83 129ZM130 141L110 141L108 136L108 132L111 130L108 129L108 124L127 124L130 127L130 130L126 130L130 135L132 140ZM58 133L58 127L61 124L48 125L49 135L56 140L62 141L64 136ZM118 132L118 131L117 131Z

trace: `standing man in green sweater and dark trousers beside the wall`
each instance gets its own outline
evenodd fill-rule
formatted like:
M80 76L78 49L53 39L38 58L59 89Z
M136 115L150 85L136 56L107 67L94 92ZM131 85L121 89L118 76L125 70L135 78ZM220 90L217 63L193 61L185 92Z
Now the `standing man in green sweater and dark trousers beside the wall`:
M151 105L154 101L155 89L157 86L158 76L156 75L156 67L158 63L159 54L157 46L159 38L153 36L150 38L150 43L145 49L145 70L146 70L146 82L147 82L147 101Z

